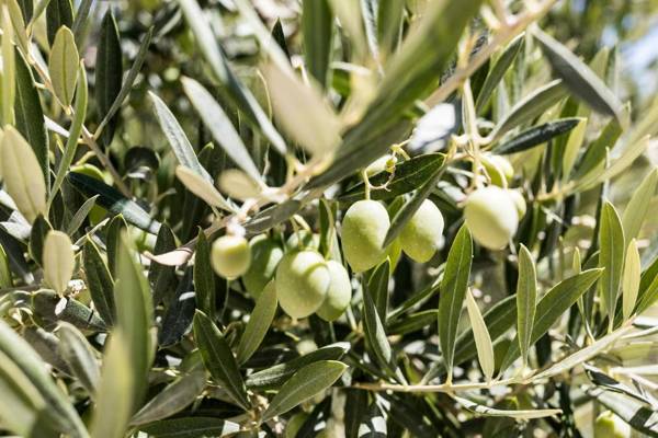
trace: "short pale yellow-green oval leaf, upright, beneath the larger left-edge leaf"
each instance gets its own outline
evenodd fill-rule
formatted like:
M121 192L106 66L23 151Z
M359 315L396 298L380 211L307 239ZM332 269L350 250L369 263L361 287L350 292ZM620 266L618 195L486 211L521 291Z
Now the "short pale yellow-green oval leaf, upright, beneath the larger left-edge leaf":
M76 254L69 237L61 231L50 231L44 242L44 278L57 293L68 288L76 267Z

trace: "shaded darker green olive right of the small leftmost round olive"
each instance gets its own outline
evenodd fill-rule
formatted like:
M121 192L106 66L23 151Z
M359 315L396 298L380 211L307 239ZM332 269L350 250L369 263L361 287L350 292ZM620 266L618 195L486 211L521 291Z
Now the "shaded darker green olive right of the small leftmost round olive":
M251 239L249 247L251 249L251 265L242 276L242 281L245 281L247 291L258 299L264 287L274 277L276 266L283 257L283 249L266 234L259 234Z

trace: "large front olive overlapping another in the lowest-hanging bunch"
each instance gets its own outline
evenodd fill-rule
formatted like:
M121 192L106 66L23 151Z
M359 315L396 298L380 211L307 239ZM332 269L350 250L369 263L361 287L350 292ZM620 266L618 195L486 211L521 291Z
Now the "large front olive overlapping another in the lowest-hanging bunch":
M288 315L306 318L322 306L330 280L327 262L317 252L287 253L276 268L279 303Z

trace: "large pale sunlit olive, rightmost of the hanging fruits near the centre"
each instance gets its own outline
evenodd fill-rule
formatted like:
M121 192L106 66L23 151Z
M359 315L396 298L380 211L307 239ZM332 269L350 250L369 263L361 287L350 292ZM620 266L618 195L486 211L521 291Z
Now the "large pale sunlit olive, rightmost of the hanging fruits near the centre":
M473 192L466 199L464 216L473 238L489 250L503 249L519 226L512 197L495 185Z

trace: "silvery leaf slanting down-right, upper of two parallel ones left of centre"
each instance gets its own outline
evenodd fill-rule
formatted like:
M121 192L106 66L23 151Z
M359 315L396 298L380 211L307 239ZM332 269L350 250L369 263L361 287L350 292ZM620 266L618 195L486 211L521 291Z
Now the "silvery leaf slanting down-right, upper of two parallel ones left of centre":
M253 181L260 181L258 171L240 135L213 95L194 79L181 79L185 94L194 105L213 138L226 151L228 157Z

